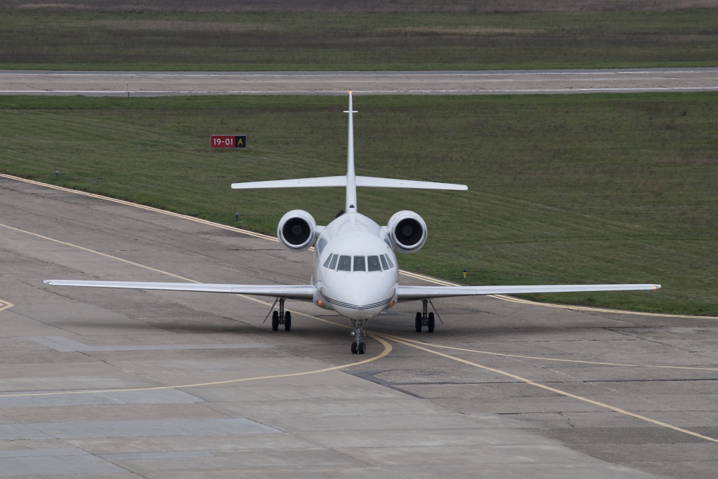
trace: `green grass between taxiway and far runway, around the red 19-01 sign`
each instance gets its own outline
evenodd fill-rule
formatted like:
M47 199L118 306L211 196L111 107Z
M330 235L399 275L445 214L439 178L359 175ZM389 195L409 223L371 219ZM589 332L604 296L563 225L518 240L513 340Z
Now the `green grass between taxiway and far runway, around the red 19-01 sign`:
M717 94L354 106L358 174L469 185L360 190L360 212L379 223L401 209L428 223L402 267L465 284L656 282L659 292L535 298L718 315ZM326 224L342 190L230 183L342 175L345 108L340 97L3 97L0 170L274 234L293 208ZM248 148L210 151L210 134L247 134Z

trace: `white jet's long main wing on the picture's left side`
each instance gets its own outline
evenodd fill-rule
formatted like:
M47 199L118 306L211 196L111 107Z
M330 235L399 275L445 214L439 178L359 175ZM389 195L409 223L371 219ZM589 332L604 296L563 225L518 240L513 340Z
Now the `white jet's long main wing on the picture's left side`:
M93 288L164 289L167 291L195 291L206 293L254 294L287 299L312 301L311 284L208 284L208 283L154 283L135 281L75 281L73 279L46 279L50 286L84 286Z

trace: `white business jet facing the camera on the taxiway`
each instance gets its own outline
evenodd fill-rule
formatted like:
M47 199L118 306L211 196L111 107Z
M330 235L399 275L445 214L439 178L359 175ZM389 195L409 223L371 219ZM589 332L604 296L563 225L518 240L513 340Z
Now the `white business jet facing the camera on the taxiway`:
M394 251L416 253L426 241L426 223L413 211L399 211L380 226L358 213L357 187L424 188L430 190L467 190L466 185L393 180L356 176L354 173L354 127L352 95L349 92L349 136L347 174L345 176L302 178L234 183L237 190L246 188L345 187L345 209L327 226L317 226L304 210L286 213L277 227L279 241L291 251L314 246L314 266L309 284L191 284L154 282L73 281L51 279L52 286L83 286L129 289L166 289L174 291L252 294L276 298L272 305L272 330L292 327L291 312L284 310L286 299L311 301L325 310L347 317L353 327L352 353L364 354L364 323L398 302L421 300L423 308L416 313L416 332L426 327L434 331L434 313L428 312L430 299L472 296L478 294L518 294L538 292L626 291L658 289L660 284L574 284L542 286L400 286ZM279 311L275 310L279 302Z

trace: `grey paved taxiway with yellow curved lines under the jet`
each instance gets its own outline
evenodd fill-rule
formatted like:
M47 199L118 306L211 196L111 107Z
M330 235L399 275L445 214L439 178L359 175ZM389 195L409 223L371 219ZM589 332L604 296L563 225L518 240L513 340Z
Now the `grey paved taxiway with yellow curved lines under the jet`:
M429 334L410 302L352 355L308 303L272 332L266 299L42 283L305 284L310 261L0 177L0 478L715 477L714 318L475 297Z

